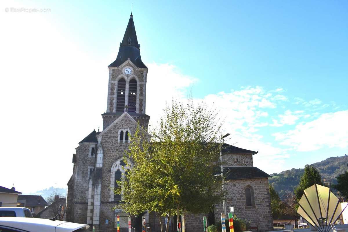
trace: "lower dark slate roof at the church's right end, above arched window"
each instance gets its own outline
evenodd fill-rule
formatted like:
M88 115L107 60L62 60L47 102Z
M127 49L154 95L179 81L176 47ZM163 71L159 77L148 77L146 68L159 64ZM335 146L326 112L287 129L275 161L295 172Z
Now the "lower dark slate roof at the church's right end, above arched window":
M223 173L227 180L271 177L256 167L223 167Z

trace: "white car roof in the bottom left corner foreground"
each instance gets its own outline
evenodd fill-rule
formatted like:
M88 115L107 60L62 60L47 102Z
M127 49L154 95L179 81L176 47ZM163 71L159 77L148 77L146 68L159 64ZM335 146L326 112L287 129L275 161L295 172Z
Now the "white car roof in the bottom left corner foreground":
M29 217L0 217L0 232L89 232L89 225Z

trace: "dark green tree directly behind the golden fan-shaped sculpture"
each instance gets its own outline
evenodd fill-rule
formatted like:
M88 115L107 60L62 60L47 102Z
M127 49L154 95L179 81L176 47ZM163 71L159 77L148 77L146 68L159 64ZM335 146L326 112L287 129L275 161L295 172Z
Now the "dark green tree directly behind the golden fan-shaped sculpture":
M323 185L322 177L315 167L311 165L306 165L304 167L304 173L301 176L300 183L294 191L296 199L300 200L303 195L303 190L307 189L308 187L314 184Z

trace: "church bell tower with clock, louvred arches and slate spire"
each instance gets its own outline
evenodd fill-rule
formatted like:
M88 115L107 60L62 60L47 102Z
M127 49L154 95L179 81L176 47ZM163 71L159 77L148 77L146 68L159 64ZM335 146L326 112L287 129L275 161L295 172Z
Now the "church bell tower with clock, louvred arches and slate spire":
M120 42L116 60L108 68L108 101L106 113L102 114L103 130L124 112L147 128L150 118L145 114L148 67L141 61L133 14Z

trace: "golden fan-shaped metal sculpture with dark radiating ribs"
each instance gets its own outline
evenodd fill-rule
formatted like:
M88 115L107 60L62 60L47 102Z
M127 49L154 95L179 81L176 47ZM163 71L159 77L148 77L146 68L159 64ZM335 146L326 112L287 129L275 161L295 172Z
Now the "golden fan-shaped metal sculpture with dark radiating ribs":
M330 188L314 184L304 190L297 213L320 232L335 230L334 223L341 215L339 199Z

